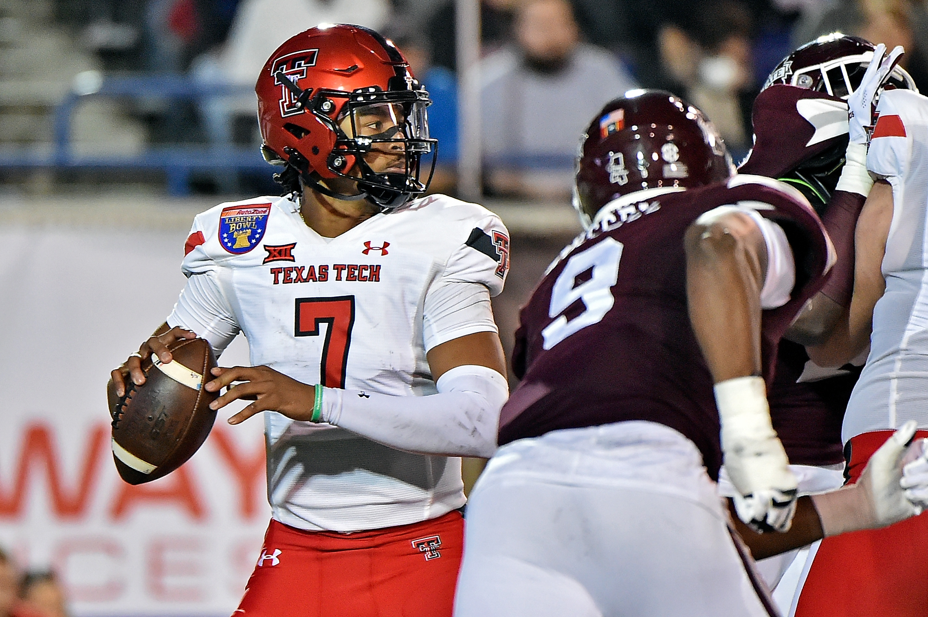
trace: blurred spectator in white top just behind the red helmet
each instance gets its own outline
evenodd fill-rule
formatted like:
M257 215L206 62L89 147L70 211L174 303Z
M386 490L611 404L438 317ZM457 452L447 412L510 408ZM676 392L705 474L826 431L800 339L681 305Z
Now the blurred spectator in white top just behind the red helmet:
M191 73L200 82L251 90L264 60L294 34L320 23L353 23L378 29L390 18L388 0L242 0L226 42L196 58ZM213 144L232 141L236 115L254 116L254 94L216 96L200 109Z

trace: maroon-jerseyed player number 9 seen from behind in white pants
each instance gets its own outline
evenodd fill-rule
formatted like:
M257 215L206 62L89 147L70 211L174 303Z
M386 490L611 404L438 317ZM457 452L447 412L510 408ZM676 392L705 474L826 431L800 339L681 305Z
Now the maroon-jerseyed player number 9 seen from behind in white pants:
M522 382L470 496L456 615L775 614L718 499L723 453L742 521L786 532L796 512L756 535L761 556L918 511L899 486L911 424L864 484L797 510L766 381L833 253L798 191L733 171L672 94L632 91L589 125L586 233L522 309Z

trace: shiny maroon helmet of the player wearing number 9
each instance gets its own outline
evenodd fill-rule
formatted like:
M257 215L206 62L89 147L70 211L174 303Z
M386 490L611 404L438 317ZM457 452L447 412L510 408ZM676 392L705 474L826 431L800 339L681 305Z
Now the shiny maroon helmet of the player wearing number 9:
M576 162L574 208L585 226L617 197L720 182L735 172L702 111L663 90L631 90L597 114Z

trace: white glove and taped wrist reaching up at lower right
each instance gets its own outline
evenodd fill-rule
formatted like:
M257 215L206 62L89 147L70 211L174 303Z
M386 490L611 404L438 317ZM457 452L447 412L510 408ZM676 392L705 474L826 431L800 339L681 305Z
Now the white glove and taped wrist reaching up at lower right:
M914 420L909 420L899 427L870 457L857 484L812 496L822 531L826 536L861 529L877 529L922 512L922 508L913 505L903 492L903 463L919 454L924 456L921 449L923 440L907 449L916 427L917 423ZM915 447L918 449L913 449ZM914 463L918 463L922 457L914 460ZM926 481L928 477L921 483L913 481L912 485L928 490Z

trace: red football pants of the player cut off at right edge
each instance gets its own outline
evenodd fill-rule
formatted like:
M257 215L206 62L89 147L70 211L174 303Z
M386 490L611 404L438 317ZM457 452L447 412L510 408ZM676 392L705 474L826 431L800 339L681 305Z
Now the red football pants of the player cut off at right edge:
M892 434L873 431L851 439L851 483ZM915 436L928 437L928 431ZM924 617L926 556L928 512L883 529L827 537L809 568L795 617Z

